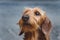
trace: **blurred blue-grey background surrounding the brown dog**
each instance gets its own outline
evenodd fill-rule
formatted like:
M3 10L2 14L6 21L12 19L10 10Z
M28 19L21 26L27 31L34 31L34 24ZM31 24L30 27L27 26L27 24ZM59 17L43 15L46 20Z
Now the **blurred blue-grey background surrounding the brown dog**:
M52 22L51 40L60 40L60 0L0 0L0 40L23 40L16 24L25 7L40 7Z

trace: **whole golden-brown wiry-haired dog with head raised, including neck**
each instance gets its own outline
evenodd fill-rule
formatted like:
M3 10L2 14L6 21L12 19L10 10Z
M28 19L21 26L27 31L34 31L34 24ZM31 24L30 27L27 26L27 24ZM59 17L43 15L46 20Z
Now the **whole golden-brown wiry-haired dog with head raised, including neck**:
M19 22L20 33L24 40L50 40L51 21L41 8L25 8Z

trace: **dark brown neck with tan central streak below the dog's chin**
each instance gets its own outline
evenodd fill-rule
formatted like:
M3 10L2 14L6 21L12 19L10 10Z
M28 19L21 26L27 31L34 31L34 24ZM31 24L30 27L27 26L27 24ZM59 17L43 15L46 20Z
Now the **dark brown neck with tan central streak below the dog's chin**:
M36 30L25 33L24 40L46 40L46 38L41 30Z

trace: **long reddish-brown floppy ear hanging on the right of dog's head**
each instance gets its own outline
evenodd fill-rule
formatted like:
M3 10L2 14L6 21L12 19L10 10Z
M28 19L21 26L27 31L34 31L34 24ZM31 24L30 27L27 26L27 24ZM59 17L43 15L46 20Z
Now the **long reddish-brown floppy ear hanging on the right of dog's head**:
M42 31L44 34L48 34L51 31L51 21L46 17L45 20L43 21L42 25Z

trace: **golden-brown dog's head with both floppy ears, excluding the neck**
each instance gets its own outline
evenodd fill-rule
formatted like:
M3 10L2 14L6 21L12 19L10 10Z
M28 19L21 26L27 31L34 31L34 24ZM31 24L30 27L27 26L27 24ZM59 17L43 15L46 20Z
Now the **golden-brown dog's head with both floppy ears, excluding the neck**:
M51 28L50 20L45 15L45 12L40 8L26 8L23 12L21 19L18 22L21 32L33 32L38 28L42 28L43 33L48 33Z

